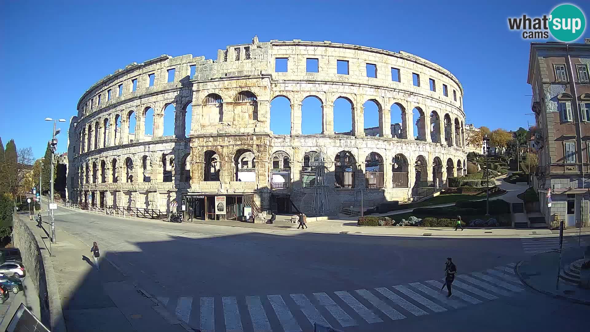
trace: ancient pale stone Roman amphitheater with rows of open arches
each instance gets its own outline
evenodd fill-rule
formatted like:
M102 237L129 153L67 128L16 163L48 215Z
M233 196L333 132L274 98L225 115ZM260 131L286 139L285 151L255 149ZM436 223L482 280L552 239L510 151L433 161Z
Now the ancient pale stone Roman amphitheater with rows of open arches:
M218 220L407 201L464 174L462 100L453 74L403 51L254 37L217 60L163 55L80 98L68 198Z

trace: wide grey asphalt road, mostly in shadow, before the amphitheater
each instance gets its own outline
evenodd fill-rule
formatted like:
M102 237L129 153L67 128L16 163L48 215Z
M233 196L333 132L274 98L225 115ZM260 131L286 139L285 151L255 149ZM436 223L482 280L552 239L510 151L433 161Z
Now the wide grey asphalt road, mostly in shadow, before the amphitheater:
M56 225L86 243L97 241L103 257L202 330L308 331L310 321L346 331L423 330L442 317L464 321L463 315L489 310L518 320L514 310L536 315L525 307L554 301L510 272L523 258L552 250L551 239L317 234L119 219L61 207ZM566 245L577 245L577 238ZM437 294L447 256L464 275L453 301Z

